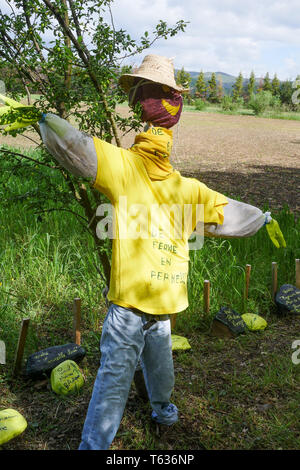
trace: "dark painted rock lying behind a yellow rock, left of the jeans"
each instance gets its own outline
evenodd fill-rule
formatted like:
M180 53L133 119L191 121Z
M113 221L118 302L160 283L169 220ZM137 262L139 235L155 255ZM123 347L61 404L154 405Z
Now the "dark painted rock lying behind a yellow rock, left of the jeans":
M52 369L62 362L70 360L79 363L85 354L85 349L75 343L37 351L27 359L25 375L28 378L38 378L43 374L50 375Z

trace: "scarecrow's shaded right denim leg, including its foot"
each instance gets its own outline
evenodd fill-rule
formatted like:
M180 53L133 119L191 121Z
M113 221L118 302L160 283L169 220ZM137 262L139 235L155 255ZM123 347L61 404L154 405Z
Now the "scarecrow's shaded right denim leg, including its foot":
M170 403L174 387L174 366L169 320L158 321L145 332L141 364L153 409L152 418L160 424L175 423L178 420L178 410Z

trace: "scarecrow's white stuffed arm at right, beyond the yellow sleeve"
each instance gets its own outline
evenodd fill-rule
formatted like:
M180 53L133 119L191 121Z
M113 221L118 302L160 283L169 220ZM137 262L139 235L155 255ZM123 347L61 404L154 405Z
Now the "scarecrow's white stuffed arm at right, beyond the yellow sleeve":
M223 224L204 224L204 235L209 237L251 237L272 220L270 212L263 213L250 204L227 199L228 204L223 209ZM199 228L201 227L197 226L197 231Z

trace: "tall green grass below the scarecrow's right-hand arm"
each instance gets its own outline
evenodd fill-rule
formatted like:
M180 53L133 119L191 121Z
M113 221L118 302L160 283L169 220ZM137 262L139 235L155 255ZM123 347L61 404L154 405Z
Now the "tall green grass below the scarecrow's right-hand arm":
M272 213L286 239L287 247L277 249L262 228L244 239L206 239L199 251L190 252L188 282L190 306L179 315L177 325L189 332L209 328L212 317L223 305L240 313L246 311L268 317L274 310L271 296L272 262L278 264L278 285L295 283L295 258L300 255L300 220L288 208ZM245 302L245 267L251 265L250 289ZM210 280L210 313L204 314L203 283ZM188 318L188 321L187 321Z

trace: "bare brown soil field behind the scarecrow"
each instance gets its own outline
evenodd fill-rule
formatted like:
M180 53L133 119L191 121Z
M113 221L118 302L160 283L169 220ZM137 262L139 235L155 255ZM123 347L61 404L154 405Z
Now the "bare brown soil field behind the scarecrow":
M127 114L127 107L120 107ZM29 148L33 133L1 136L1 143ZM300 123L254 116L183 112L173 128L172 163L216 191L271 210L300 213ZM134 133L122 139L130 147Z

